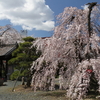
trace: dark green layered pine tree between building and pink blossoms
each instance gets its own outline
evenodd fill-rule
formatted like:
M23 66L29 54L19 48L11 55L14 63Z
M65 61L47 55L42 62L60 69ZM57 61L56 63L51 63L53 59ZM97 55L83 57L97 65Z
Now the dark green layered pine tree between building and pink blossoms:
M40 55L41 51L37 50L33 45L35 39L33 37L23 38L24 42L12 53L13 58L9 60L9 64L15 65L15 68L21 71L21 76L27 78L27 86L30 86L31 72L30 67Z

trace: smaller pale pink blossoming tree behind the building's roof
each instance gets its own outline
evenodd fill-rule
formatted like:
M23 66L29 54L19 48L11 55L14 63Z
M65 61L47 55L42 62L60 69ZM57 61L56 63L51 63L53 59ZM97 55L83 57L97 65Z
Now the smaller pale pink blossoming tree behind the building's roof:
M18 31L10 25L0 26L0 44L15 44L21 42L22 37Z

